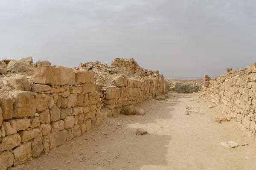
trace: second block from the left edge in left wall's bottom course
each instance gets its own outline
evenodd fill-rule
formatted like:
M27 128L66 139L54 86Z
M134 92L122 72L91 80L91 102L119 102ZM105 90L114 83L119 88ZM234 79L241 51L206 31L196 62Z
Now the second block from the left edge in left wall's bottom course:
M16 147L15 150L13 150L13 154L14 154L13 165L15 167L25 163L28 159L32 157L31 143L27 142L26 144L22 144L21 146Z

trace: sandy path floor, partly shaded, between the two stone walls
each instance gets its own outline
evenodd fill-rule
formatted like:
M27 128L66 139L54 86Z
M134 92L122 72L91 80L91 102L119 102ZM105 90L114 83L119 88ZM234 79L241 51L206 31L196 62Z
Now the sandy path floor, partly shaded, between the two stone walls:
M42 155L26 170L255 170L256 144L230 122L213 121L220 108L197 94L169 94L136 105L145 116L108 118L83 136ZM186 106L190 106L186 115ZM149 135L137 136L137 128ZM224 147L220 142L247 142ZM83 159L82 162L80 160ZM65 164L70 161L69 164Z

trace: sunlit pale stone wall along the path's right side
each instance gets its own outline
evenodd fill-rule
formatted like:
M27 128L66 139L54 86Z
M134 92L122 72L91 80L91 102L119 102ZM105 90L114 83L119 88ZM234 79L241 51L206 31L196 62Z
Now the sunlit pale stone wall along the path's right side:
M245 68L227 69L227 74L215 79L205 75L202 88L215 104L221 105L229 121L241 128L248 136L255 138L256 131L256 63Z

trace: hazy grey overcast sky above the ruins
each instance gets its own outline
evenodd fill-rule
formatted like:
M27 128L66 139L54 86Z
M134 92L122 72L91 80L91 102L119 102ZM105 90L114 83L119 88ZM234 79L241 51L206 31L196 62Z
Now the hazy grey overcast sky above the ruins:
M256 62L255 0L1 0L0 59L78 66L134 58L165 76Z

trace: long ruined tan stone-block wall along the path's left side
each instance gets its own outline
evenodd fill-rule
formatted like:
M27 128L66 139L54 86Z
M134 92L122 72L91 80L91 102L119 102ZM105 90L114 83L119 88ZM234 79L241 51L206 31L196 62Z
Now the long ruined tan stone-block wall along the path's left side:
M209 90L208 90L209 91ZM0 170L12 169L64 144L133 105L167 93L159 71L134 59L80 63L77 68L0 61Z

